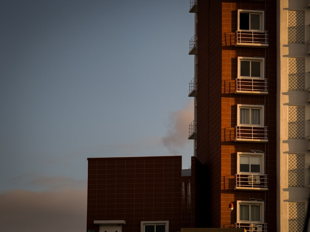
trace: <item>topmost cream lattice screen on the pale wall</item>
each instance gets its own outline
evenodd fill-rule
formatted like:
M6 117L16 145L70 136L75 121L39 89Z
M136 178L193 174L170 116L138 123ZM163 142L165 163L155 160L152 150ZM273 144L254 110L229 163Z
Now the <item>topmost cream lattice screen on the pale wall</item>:
M305 43L305 12L287 11L287 40L290 44Z

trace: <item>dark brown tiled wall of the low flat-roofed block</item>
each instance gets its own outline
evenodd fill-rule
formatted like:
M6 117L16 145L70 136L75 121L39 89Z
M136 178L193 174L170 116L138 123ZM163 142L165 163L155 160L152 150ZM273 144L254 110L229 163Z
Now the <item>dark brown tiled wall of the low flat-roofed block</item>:
M88 158L87 229L99 230L94 220L125 220L124 232L168 220L169 231L180 230L181 169L181 156Z

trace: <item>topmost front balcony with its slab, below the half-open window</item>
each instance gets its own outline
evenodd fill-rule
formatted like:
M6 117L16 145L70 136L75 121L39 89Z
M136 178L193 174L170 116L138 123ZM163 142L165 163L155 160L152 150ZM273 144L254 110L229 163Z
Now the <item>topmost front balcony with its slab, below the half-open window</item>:
M236 31L236 47L267 48L267 31Z

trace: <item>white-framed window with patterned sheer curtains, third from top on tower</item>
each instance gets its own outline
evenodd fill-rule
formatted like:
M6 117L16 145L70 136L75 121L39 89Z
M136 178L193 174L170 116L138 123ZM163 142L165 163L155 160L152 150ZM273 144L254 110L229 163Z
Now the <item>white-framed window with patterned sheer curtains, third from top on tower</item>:
M237 120L237 126L264 126L264 106L237 104Z

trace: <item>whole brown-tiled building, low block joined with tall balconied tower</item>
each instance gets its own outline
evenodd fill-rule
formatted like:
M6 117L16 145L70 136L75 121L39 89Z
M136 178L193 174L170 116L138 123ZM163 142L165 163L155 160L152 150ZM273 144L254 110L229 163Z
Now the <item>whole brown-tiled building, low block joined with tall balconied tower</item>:
M310 0L190 0L189 12L191 170L180 156L88 158L87 232L303 231Z

